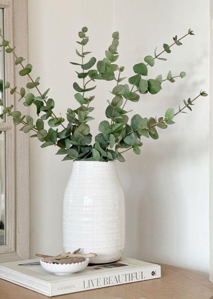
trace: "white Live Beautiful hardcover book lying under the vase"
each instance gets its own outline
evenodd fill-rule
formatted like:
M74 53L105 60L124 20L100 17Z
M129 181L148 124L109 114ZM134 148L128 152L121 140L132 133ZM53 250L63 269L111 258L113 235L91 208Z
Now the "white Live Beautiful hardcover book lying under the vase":
M160 265L126 257L110 264L89 264L63 276L47 272L41 265L20 265L36 261L39 259L2 263L0 278L51 297L161 277Z

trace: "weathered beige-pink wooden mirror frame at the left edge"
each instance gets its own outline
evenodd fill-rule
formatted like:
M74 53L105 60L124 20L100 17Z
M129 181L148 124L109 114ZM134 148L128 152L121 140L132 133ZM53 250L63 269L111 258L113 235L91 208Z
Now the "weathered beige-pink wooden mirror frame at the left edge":
M4 36L16 46L16 52L28 63L27 0L0 0L4 9ZM26 86L27 76L20 77L14 56L5 53L5 81L11 86ZM29 108L18 102L18 97L5 89L6 106L14 105L24 115ZM0 245L0 262L24 260L30 253L30 140L28 134L14 126L11 117L0 124L6 131L6 243Z

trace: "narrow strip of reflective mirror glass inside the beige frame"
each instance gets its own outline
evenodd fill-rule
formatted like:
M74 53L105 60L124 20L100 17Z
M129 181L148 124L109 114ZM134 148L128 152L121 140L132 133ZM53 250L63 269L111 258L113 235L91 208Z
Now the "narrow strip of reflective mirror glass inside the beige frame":
M0 28L4 24L3 9L0 9ZM4 95L4 49L0 45L0 122L4 121L3 105L5 103ZM6 206L6 163L5 163L5 137L6 133L0 131L0 244L5 244L5 206Z

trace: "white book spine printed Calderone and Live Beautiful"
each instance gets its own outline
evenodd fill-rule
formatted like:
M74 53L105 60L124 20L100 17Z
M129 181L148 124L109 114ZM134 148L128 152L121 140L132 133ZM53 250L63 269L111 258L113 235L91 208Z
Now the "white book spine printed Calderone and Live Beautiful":
M161 268L159 265L146 268L137 268L126 271L116 271L113 273L105 273L93 276L82 277L78 279L67 279L51 283L50 296L93 290L106 286L114 286L125 283L133 283L148 279L161 277Z

